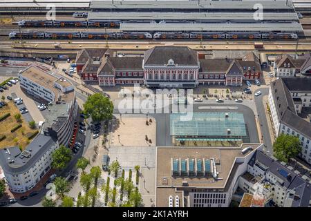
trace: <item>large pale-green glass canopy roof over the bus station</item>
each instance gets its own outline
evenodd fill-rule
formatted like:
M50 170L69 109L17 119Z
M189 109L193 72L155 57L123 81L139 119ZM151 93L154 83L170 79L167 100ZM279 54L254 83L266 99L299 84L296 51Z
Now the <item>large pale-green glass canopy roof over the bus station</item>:
M191 121L182 114L170 115L170 132L176 142L237 142L247 137L241 113L193 113Z

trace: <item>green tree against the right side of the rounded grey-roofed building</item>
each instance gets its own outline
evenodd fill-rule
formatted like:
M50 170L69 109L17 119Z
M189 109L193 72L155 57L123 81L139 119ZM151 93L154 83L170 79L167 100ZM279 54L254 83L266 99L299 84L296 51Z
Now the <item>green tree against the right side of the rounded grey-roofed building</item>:
M66 168L68 162L70 162L72 157L72 153L70 148L66 148L66 146L61 145L52 153L52 166L54 169L62 170Z

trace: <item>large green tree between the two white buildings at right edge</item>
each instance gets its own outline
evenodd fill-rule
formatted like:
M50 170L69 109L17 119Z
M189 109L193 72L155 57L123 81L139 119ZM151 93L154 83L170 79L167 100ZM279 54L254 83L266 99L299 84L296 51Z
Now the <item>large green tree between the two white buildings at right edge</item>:
M301 152L299 138L293 135L281 134L273 144L274 157L283 162L288 162Z

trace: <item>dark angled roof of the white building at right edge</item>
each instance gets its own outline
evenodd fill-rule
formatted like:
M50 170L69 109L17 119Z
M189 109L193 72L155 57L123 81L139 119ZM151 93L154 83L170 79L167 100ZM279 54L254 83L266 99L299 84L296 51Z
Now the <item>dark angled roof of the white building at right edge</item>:
M297 82L300 82L300 85L297 84ZM271 84L272 96L276 106L276 113L279 116L280 121L308 137L311 137L311 124L305 119L296 115L294 100L292 99L290 90L299 90L299 88L297 88L297 86L299 86L300 88L303 88L303 91L305 91L306 88L310 88L310 84L311 79L297 77L279 78L273 81Z

